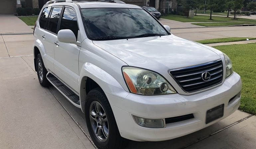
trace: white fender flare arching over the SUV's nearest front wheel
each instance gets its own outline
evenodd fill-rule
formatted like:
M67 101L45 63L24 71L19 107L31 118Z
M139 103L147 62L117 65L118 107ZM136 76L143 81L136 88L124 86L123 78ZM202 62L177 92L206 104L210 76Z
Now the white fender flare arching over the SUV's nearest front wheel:
M124 91L120 83L110 74L102 70L101 68L91 63L85 63L82 66L79 77L79 88L80 88L80 105L81 110L84 113L85 102L86 102L86 80L91 78L95 81L101 89L108 94L118 94ZM127 93L128 94L128 93ZM111 103L110 103L111 106Z

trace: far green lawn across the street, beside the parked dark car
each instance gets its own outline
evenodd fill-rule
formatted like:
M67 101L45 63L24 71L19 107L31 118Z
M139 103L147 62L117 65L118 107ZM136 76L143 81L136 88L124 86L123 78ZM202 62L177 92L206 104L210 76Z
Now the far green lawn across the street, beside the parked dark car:
M232 20L232 17L227 18L227 17L219 17L219 16L212 16L213 20L209 20L210 16L200 16L200 15L194 16L193 18L187 18L186 16L178 16L178 15L167 15L167 16L162 16L162 18L180 21L180 22L226 22L226 21L255 22L255 20L252 20L252 19L238 18L237 20Z

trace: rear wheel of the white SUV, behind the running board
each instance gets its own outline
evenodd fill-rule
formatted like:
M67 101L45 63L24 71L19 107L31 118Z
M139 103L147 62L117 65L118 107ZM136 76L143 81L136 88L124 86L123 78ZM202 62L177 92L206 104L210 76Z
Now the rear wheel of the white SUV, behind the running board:
M39 83L44 87L48 87L50 85L50 82L46 78L46 75L48 72L45 68L41 54L37 55L36 69L37 69L37 76L38 76Z

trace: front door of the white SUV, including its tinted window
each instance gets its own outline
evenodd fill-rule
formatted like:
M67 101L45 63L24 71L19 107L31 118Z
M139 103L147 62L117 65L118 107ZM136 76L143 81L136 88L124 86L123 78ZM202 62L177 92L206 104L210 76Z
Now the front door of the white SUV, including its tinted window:
M81 39L76 16L77 15L72 7L65 6L60 23L60 30L72 30L75 34L76 40L80 41ZM73 91L78 93L78 56L81 47L76 44L60 42L57 38L55 43L55 74L71 89L73 89Z

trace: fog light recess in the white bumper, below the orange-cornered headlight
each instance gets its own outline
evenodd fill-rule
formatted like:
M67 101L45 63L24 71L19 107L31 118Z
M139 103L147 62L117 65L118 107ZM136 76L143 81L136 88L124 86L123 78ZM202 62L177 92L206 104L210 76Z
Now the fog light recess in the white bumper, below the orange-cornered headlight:
M135 122L142 126L148 128L164 128L164 120L163 119L145 119L137 116L133 116Z

